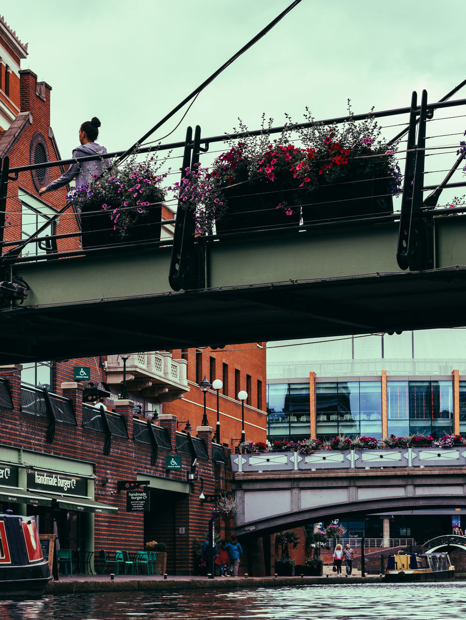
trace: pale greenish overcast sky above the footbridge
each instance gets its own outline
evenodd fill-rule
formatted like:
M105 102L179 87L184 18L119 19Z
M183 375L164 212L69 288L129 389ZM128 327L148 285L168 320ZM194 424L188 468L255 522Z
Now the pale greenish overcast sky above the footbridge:
M65 158L93 116L108 151L138 141L289 4L22 0L1 11L29 43L22 68L52 86L51 124ZM262 113L276 125L285 112L299 122L306 106L317 119L344 116L347 99L355 113L407 107L413 90L437 101L466 78L465 13L464 0L302 0L153 139L180 121L166 140L181 141L197 124L222 135L238 117L258 128ZM455 96L466 98L466 88Z

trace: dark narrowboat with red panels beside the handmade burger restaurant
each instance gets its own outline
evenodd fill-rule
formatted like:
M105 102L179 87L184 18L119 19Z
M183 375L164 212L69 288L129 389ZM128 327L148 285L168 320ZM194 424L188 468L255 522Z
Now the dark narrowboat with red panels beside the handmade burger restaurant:
M34 517L0 514L0 596L37 596L52 579Z

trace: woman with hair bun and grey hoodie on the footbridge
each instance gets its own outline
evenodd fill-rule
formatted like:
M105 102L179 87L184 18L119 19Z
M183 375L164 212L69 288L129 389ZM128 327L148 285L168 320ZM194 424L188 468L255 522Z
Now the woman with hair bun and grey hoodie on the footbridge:
M74 162L61 177L49 183L47 187L41 187L39 190L40 194L58 190L60 187L72 181L74 177L76 177L76 187L79 187L92 181L96 176L98 177L101 175L105 168L110 167L110 159L104 157L104 155L107 154L107 149L96 143L100 126L101 122L97 117L84 122L81 127L79 127L79 143L81 146L78 146L73 151L73 157L96 155L97 159L85 161L82 164Z

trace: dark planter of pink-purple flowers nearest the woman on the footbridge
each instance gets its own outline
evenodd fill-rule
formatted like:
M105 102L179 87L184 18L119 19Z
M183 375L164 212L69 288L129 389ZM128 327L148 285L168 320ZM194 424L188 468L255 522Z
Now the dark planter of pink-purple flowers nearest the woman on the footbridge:
M118 168L105 169L100 177L68 194L81 211L83 248L121 241L159 241L162 202L166 192L158 174L164 160L156 156L137 161L137 153Z

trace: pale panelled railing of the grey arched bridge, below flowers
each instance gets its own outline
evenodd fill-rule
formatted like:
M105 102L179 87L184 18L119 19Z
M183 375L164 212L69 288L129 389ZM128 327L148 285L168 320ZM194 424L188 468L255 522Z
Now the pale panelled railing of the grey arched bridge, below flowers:
M380 467L466 466L466 447L319 450L313 454L265 452L231 454L234 472L317 471L320 469L372 469Z

